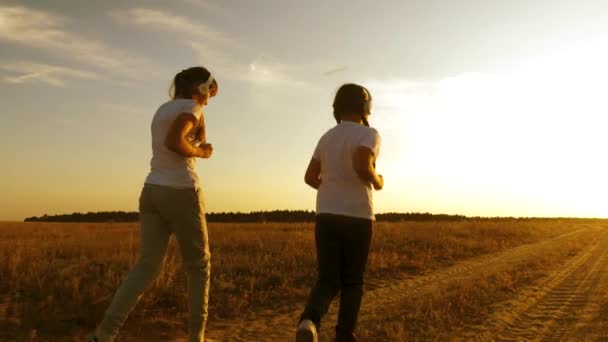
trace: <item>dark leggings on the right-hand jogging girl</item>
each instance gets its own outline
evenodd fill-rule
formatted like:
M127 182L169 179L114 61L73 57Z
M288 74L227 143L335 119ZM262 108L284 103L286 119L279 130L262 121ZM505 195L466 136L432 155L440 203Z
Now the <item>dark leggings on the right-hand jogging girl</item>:
M353 339L371 240L372 221L369 219L330 214L316 217L319 275L301 318L312 320L319 328L329 304L340 292L336 341Z

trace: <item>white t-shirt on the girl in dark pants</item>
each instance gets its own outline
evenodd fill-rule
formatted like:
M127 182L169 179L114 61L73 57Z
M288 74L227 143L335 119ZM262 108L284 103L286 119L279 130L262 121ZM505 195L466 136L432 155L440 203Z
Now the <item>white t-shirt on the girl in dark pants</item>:
M375 220L372 185L365 184L353 167L353 154L368 147L377 158L380 135L371 127L343 121L319 140L313 158L321 162L317 214L336 214Z

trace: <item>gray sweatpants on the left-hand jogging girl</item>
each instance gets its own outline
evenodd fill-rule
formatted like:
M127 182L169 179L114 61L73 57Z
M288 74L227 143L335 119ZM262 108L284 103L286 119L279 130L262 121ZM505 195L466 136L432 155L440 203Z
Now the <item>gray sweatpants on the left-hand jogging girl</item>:
M98 327L100 342L114 340L139 297L158 276L171 234L177 238L188 274L190 341L204 341L211 254L200 189L145 184L139 198L139 213L139 258Z

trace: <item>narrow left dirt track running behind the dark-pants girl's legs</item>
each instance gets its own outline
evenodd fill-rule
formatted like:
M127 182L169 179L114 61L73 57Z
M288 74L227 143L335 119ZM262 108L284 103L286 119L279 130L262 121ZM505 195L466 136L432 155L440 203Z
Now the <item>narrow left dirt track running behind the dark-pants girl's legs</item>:
M378 317L398 316L407 310L408 304L425 294L447 288L454 281L474 280L508 270L535 255L559 248L562 243L598 227L585 227L537 243L518 246L500 253L483 255L456 263L454 266L416 277L390 282L378 282L375 289L365 292L359 322L373 322ZM606 235L606 234L604 234ZM577 260L581 257L577 257ZM574 301L573 301L574 302ZM255 317L243 317L239 321L209 322L208 336L214 341L288 341L294 336L295 325L304 303L295 309L284 307L280 311L266 310ZM336 321L337 307L332 305L324 318L321 341L330 341Z

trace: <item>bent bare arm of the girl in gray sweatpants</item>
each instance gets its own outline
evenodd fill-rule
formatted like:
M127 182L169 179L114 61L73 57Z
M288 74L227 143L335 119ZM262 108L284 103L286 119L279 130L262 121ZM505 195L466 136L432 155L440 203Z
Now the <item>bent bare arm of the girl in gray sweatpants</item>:
M186 136L196 126L197 120L192 114L181 113L171 125L165 138L165 146L184 157L209 158L213 152L211 144L192 145Z

